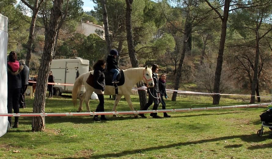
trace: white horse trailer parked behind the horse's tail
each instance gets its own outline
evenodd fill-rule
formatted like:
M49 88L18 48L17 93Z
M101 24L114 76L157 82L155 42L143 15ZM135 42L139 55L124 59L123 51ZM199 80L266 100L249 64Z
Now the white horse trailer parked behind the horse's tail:
M89 72L89 60L78 59L55 59L51 63L51 71L55 83L74 84L79 75ZM71 93L71 85L54 85L53 94L60 96L61 93ZM81 94L85 87L81 87Z

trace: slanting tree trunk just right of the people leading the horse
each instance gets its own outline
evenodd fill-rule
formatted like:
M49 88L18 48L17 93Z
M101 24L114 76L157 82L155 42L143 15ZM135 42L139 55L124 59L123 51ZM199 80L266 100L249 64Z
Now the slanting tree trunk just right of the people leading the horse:
M181 51L181 57L179 59L179 64L178 64L178 69L176 71L176 80L175 80L175 87L174 89L175 90L178 90L178 87L179 87L179 80L180 80L180 77L181 77L181 70L182 70L182 64L183 64L183 60L184 60L184 57L185 57L185 52L186 52L186 42L187 42L187 30L188 28L186 28L188 25L187 25L187 22L188 22L188 19L189 19L189 13L187 13L187 17L186 17L186 20L185 20L185 29L184 29L184 33L183 33L183 40L182 40L182 51ZM179 50L179 49L177 49ZM176 101L177 99L177 92L173 92L173 95L172 95L172 101Z

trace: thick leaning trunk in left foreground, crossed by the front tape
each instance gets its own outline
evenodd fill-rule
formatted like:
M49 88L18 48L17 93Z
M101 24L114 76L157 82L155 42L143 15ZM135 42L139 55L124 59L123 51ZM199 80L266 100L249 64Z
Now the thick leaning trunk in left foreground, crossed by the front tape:
M50 23L48 28L45 28L45 45L42 54L42 62L39 67L39 75L36 85L36 97L33 103L33 113L44 113L45 97L48 82L48 74L53 58L53 51L56 43L57 32L59 31L59 23L61 21L61 8L63 0L54 0L51 10ZM37 95L39 94L39 96ZM45 128L44 117L33 117L32 131L43 131Z

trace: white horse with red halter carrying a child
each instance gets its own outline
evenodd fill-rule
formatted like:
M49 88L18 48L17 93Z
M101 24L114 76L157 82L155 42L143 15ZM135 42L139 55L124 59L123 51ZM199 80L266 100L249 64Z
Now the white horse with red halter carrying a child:
M124 96L125 99L127 100L127 104L129 105L130 110L134 111L134 108L130 99L130 93L131 93L132 87L136 85L137 82L144 81L145 83L149 85L149 87L154 86L154 81L152 78L152 70L148 68L147 66L140 67L140 68L130 68L127 70L123 70L123 72L125 76L125 83L123 85L118 86L118 94L116 95L116 99L114 101L114 106L112 108L112 111L116 110L117 104L119 103L122 96ZM94 88L86 83L90 73L94 74L94 71L90 71L80 75L74 83L73 90L72 90L72 101L74 103L74 106L76 105L77 95L78 95L78 92L81 90L81 85L84 84L86 89L86 92L80 95L80 98L79 98L80 103L79 103L79 108L77 112L80 112L82 110L83 100L85 100L87 112L90 112L89 100L94 91ZM112 85L106 85L104 93L105 95L115 95L115 89ZM134 114L134 117L137 118L138 114Z

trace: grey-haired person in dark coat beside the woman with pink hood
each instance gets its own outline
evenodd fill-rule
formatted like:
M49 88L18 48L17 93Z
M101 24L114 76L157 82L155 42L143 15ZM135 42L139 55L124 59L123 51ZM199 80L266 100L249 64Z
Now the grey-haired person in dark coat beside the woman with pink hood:
M29 78L29 68L26 66L24 60L20 60L19 63L24 66L24 69L21 72L22 76L22 88L20 92L20 107L19 108L26 108L25 100L24 100L24 93L28 88L28 78Z

